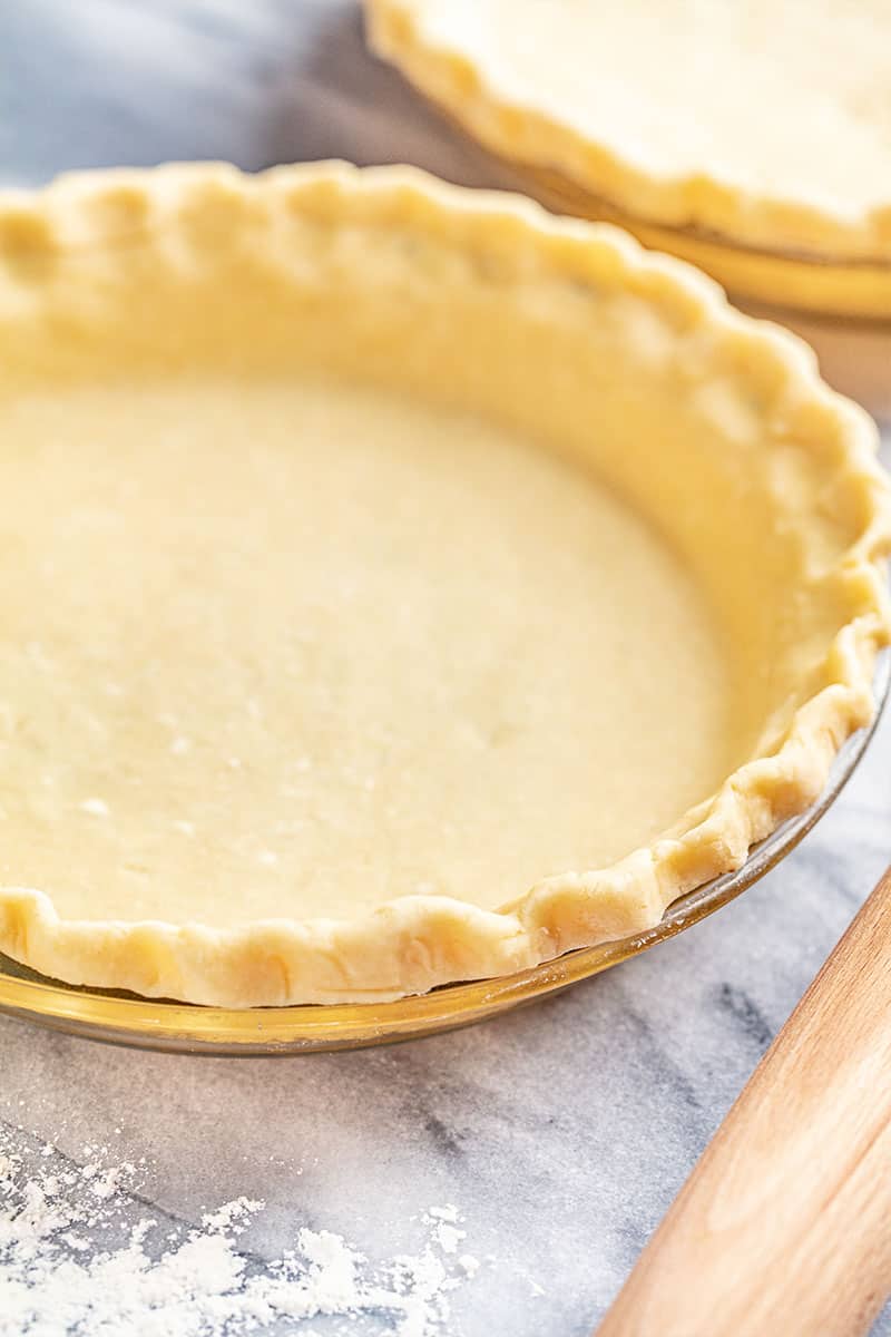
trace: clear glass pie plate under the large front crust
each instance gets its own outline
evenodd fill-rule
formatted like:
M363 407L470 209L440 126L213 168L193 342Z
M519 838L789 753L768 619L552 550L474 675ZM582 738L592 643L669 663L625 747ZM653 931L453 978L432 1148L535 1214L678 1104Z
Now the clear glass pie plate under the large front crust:
M48 980L0 956L0 1012L110 1044L180 1054L285 1055L358 1050L470 1025L532 1003L663 943L720 909L775 868L842 793L872 737L891 685L891 652L879 658L872 722L840 749L818 801L756 845L725 873L671 905L656 928L581 948L520 975L449 984L393 1003L230 1008L142 999Z

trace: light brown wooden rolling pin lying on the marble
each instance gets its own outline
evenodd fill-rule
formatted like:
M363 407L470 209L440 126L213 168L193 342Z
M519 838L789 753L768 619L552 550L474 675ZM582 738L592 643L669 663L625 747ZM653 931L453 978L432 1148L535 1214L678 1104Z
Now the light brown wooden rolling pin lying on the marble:
M597 1337L855 1337L891 1293L891 869Z

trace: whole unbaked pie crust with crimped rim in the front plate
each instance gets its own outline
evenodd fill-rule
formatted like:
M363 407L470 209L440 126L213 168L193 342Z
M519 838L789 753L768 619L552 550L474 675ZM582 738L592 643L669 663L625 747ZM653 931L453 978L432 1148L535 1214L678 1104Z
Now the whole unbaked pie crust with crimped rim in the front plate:
M875 429L606 226L409 168L0 201L0 951L370 1001L655 925L888 642Z

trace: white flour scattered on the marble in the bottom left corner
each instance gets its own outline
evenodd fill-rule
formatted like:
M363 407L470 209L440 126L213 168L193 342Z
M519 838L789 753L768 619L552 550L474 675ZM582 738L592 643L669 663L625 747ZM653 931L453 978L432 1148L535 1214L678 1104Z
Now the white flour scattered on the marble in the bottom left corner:
M374 1332L433 1337L449 1292L478 1267L457 1257L452 1206L425 1215L422 1253L382 1266L306 1229L279 1258L258 1259L238 1237L262 1202L238 1198L198 1229L171 1226L134 1197L139 1167L85 1154L75 1165L44 1147L25 1161L0 1144L0 1337L327 1337L369 1332L371 1314Z

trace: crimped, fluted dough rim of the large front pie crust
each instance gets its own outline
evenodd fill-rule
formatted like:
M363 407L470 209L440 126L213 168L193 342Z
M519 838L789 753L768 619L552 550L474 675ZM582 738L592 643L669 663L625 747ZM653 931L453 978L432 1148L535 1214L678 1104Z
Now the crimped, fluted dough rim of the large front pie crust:
M740 868L753 844L818 798L839 747L874 713L876 655L891 640L884 575L891 487L875 461L874 424L819 380L803 342L740 316L717 285L691 266L644 251L618 229L556 219L524 198L462 190L414 168L323 163L248 176L223 164L171 164L72 174L43 191L0 194L0 275L23 257L72 247L100 251L135 235L154 247L159 265L168 263L162 241L170 239L178 209L192 227L206 211L208 235L227 245L212 227L220 199L238 201L250 213L259 201L269 205L314 190L323 190L329 202L375 193L415 229L441 235L452 223L457 246L497 234L504 247L520 254L532 242L557 274L572 275L573 259L593 249L622 281L633 278L636 294L663 306L673 302L679 313L696 309L719 344L744 334L749 361L735 376L745 380L767 369L776 374L761 376L761 388L768 380L776 396L792 388L796 402L810 410L811 440L832 443L844 461L846 481L866 499L862 529L838 564L848 616L827 643L826 685L796 710L771 755L733 771L668 834L610 868L549 877L501 910L407 896L354 920L262 920L218 929L64 920L45 893L1 888L0 951L43 975L246 1008L379 1001L524 971L573 948L649 929L679 896ZM163 233L151 225L152 202L159 198ZM285 266L281 279L289 281ZM15 318L0 285L0 320Z

